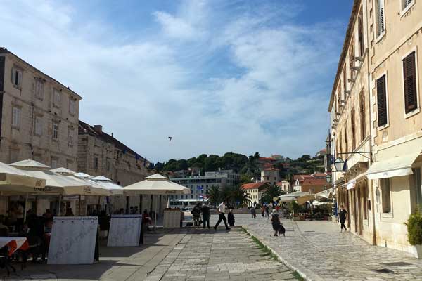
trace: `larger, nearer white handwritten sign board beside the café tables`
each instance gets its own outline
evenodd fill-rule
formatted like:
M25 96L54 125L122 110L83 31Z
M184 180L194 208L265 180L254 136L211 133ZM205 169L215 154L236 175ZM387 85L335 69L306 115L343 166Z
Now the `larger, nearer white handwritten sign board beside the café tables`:
M96 216L53 218L48 263L94 263L97 230Z

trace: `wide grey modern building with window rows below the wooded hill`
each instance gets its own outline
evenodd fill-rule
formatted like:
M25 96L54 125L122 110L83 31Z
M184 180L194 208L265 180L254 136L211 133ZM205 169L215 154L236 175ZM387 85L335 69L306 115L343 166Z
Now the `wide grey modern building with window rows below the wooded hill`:
M236 185L240 181L239 174L233 170L207 171L205 176L186 176L182 178L170 178L170 181L179 183L191 189L191 195L170 195L171 199L196 199L200 196L207 197L212 186L224 188Z

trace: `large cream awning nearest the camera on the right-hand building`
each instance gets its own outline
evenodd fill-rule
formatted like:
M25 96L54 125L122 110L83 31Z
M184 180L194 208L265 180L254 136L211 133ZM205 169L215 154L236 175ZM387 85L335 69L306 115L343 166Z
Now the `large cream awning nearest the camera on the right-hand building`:
M377 178L411 175L413 174L411 165L419 155L421 155L420 151L408 155L400 155L380 162L374 162L372 166L369 167L368 171L366 171L366 176L370 180L375 180Z

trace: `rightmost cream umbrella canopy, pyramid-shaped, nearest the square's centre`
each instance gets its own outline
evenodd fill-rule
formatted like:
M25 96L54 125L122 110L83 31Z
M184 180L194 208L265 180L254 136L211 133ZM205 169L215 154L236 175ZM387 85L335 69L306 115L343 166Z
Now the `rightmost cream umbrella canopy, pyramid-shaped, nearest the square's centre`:
M183 185L169 181L165 176L155 174L147 176L144 181L125 186L124 193L127 195L172 195L172 194L191 194L189 188Z

